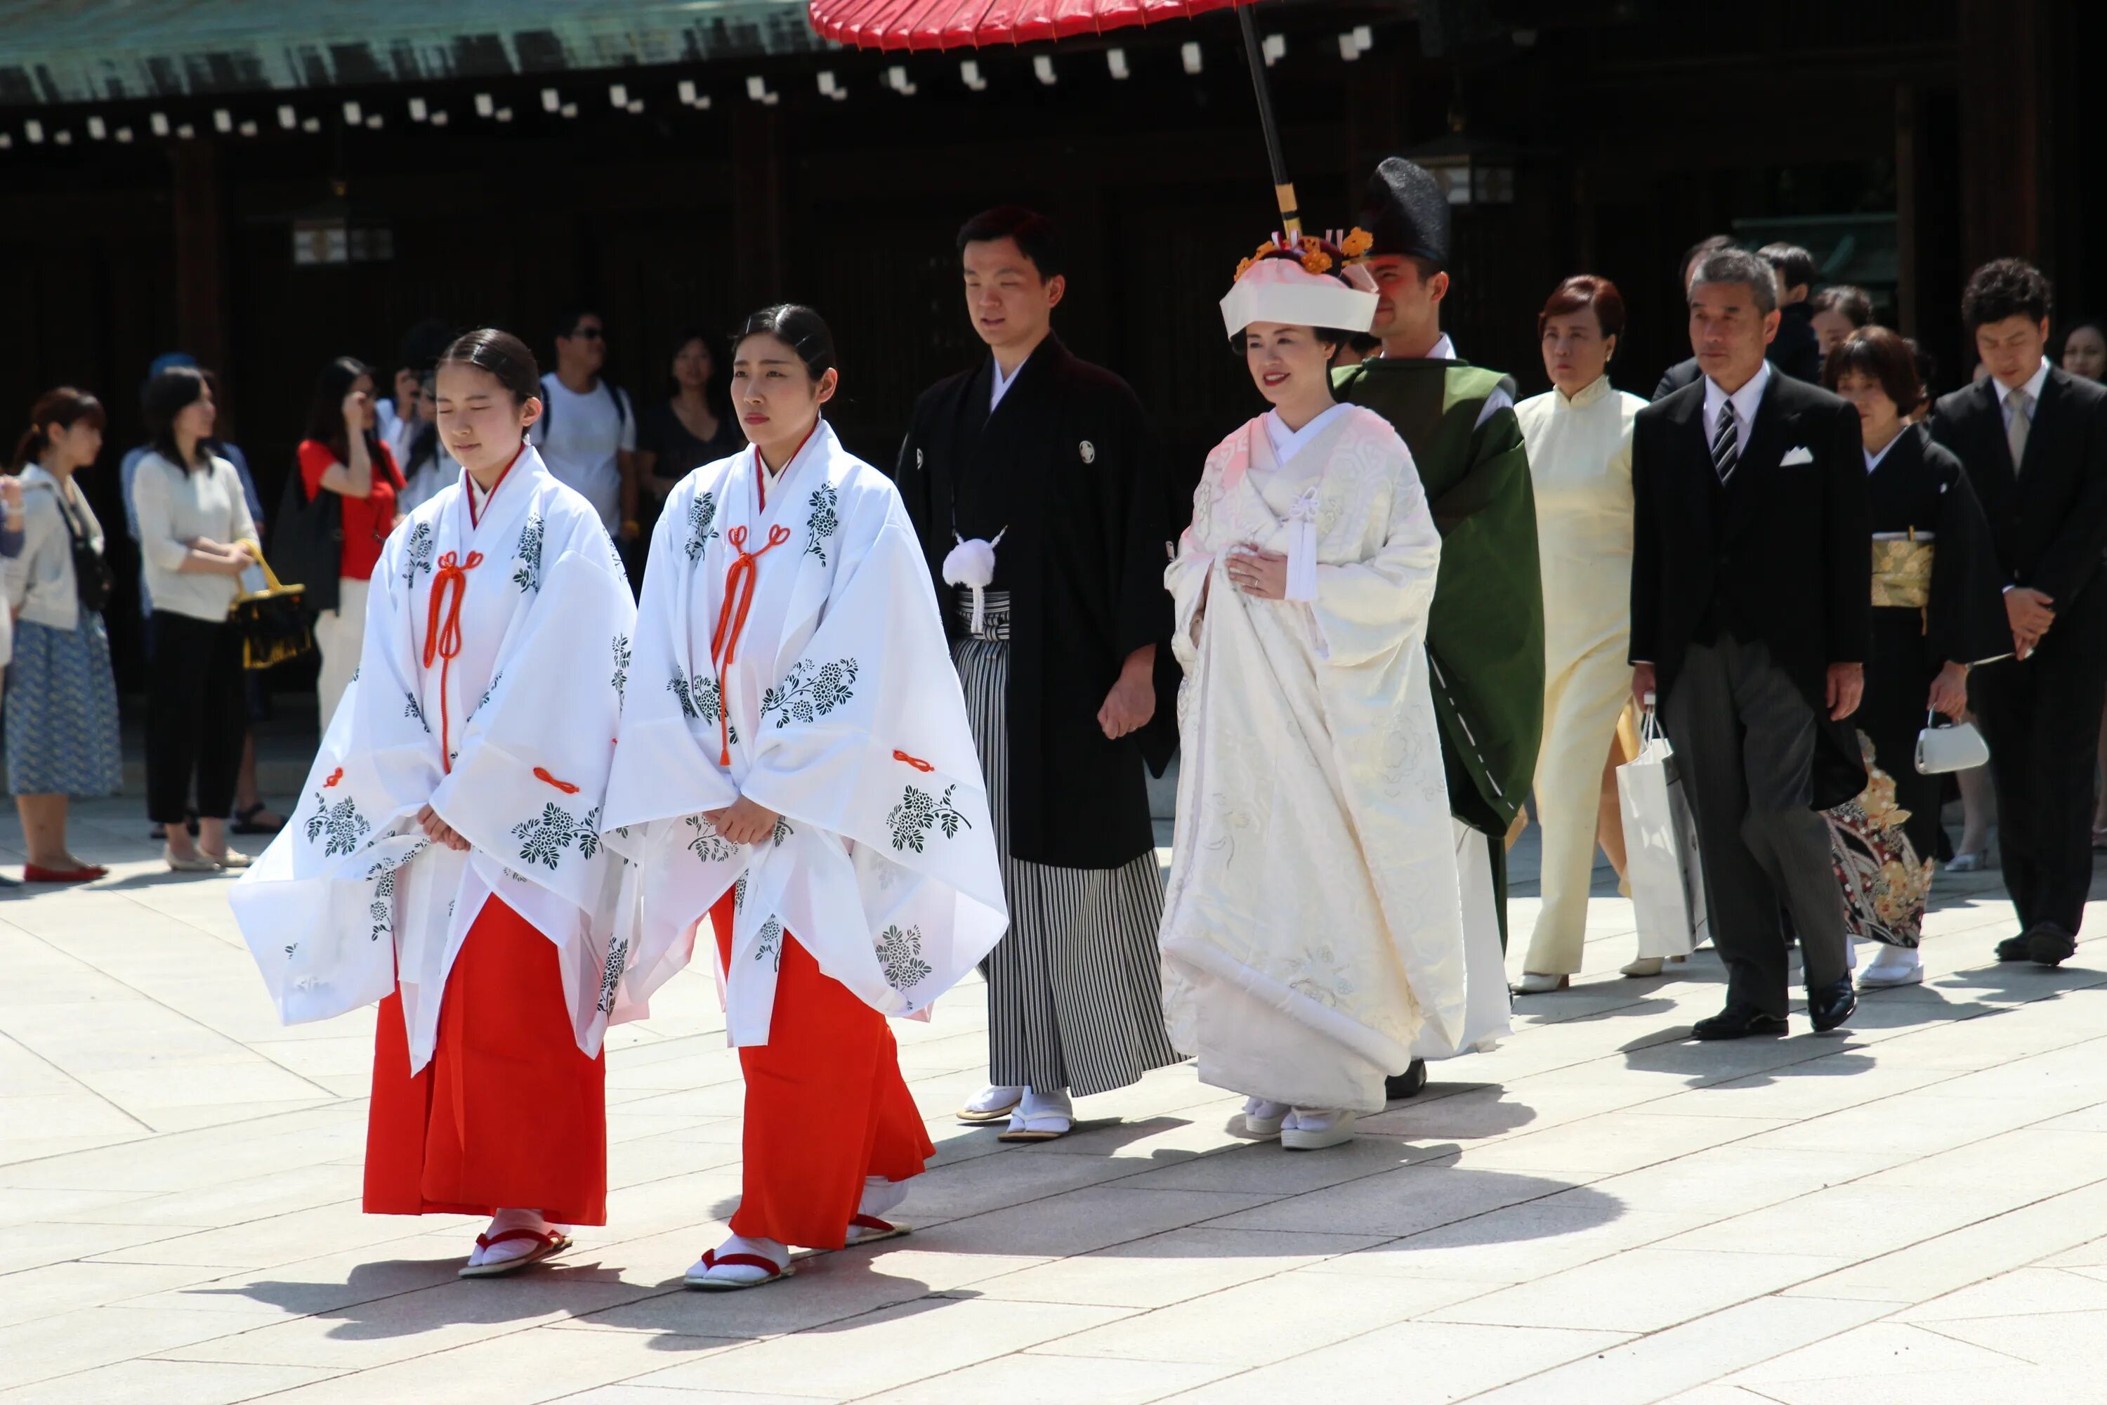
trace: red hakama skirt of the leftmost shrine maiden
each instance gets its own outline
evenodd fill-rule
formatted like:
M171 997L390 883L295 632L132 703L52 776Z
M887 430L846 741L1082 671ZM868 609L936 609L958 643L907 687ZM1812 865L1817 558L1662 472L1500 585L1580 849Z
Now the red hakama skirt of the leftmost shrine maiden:
M556 946L491 897L447 973L438 1045L415 1074L402 994L381 1001L367 1213L537 1209L554 1224L607 1224L605 1085L605 1057L577 1047Z

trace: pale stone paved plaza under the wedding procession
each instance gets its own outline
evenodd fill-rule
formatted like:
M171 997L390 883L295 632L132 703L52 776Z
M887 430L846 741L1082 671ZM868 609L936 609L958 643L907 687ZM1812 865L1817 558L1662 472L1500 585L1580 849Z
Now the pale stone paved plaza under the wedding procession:
M967 986L895 1026L914 1234L704 1295L742 1102L704 975L609 1036L607 1228L461 1283L480 1224L358 1211L371 1011L280 1028L139 813L84 807L103 883L0 897L6 1405L2107 1401L2107 958L1989 961L1995 874L1941 880L1924 986L1736 1045L1681 1038L1717 961L1620 979L1599 897L1572 992L1327 1152L1226 1135L1188 1066L999 1146L948 1116Z

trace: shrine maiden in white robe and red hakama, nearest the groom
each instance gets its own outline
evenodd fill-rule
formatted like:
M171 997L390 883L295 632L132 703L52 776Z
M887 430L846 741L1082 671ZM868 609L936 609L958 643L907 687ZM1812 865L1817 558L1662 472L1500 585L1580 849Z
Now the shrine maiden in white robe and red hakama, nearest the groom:
M746 320L752 447L666 499L607 790L628 994L708 923L746 1074L744 1194L700 1289L906 1232L883 1215L936 1148L887 1015L927 1017L1009 927L929 569L891 480L820 417L836 385L815 312Z

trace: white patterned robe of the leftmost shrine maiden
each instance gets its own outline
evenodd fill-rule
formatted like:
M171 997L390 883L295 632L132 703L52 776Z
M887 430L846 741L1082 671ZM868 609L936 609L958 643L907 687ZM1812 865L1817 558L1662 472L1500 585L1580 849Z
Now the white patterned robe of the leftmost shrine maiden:
M480 520L468 489L440 489L381 548L358 676L293 819L232 893L284 1022L371 1005L400 977L413 1072L491 895L556 946L588 1055L619 977L600 800L634 600L598 514L531 447ZM424 805L468 853L424 836Z

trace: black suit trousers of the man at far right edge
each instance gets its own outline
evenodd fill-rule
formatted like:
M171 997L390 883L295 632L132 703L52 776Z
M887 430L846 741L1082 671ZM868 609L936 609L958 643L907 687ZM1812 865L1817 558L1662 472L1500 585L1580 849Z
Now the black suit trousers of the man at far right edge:
M2099 594L2099 586L2086 594ZM1997 849L2021 929L2056 923L2073 937L2092 889L2092 767L2107 699L2107 598L2056 619L2027 659L1968 678L1968 706L1989 741Z

